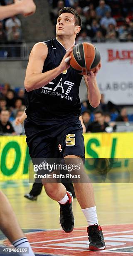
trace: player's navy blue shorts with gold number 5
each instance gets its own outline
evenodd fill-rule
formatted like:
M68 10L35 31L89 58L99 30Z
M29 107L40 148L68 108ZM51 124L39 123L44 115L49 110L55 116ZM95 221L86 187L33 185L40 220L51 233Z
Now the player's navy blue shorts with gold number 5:
M26 141L30 157L64 158L67 155L84 159L84 137L78 117L49 121L44 125L25 119Z

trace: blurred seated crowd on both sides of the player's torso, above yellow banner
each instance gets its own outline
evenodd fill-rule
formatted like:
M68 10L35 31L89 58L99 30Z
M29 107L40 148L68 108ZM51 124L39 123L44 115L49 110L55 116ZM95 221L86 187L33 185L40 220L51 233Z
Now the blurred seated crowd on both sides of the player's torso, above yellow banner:
M25 91L23 88L12 90L10 84L0 85L0 135L24 135ZM93 108L89 101L81 103L81 114L86 133L114 132L118 122L133 122L133 114L112 102L105 103L101 95L99 107ZM20 119L22 122L20 122Z

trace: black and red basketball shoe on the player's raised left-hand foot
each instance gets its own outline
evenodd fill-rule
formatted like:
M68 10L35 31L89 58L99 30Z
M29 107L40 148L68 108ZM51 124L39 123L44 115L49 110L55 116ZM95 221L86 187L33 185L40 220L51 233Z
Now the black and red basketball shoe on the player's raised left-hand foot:
M62 229L66 232L66 233L70 233L73 229L74 229L74 215L72 212L72 195L70 192L66 192L66 194L69 197L69 201L62 205L60 205L60 218L59 218L59 222L60 225L62 227Z

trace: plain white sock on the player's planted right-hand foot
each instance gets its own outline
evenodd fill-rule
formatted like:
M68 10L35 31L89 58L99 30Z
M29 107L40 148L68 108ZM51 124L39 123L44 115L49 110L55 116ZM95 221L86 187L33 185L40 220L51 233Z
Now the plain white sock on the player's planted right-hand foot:
M97 214L96 214L96 206L82 209L82 212L84 213L84 216L86 217L88 226L98 224Z

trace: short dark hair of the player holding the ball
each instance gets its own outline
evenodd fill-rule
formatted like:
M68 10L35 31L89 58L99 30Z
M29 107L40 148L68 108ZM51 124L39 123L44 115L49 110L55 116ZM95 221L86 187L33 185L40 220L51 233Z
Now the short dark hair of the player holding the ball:
M72 13L75 16L75 26L80 26L81 27L81 25L82 25L81 18L79 16L79 14L76 12L76 10L74 10L71 7L64 7L61 10L59 10L58 17L62 13Z

